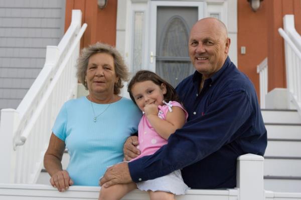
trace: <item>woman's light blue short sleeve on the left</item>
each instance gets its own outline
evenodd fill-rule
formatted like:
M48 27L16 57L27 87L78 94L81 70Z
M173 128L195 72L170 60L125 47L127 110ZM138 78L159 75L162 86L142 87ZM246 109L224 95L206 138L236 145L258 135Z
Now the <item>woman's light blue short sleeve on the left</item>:
M67 125L67 110L66 110L66 103L65 103L62 106L52 128L52 132L63 141L65 141L67 135L66 125Z

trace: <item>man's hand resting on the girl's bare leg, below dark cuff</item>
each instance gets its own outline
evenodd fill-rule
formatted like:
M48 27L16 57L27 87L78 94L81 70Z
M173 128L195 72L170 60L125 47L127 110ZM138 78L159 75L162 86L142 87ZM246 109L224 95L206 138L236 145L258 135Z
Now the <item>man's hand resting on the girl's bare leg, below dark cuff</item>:
M130 183L132 179L128 170L128 163L121 162L109 167L100 179L99 184L102 187L109 187L115 184Z

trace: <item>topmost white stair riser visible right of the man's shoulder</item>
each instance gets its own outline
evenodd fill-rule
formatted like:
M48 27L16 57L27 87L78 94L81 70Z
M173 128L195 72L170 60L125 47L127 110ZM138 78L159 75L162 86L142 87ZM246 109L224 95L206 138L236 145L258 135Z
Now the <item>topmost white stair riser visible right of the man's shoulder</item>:
M264 123L301 124L301 115L296 110L261 110Z

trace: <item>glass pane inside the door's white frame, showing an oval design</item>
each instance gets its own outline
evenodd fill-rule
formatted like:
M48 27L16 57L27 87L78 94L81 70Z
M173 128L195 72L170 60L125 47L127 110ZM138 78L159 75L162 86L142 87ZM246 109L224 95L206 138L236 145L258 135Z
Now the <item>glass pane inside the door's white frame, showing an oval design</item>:
M188 40L197 20L196 7L158 7L156 73L174 87L195 71Z

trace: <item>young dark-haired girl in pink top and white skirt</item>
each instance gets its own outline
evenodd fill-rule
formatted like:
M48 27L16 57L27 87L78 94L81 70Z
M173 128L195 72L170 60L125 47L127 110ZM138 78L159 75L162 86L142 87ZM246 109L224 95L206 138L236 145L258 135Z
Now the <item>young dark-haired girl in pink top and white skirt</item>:
M173 86L153 72L138 71L129 82L127 91L144 113L138 125L141 154L134 158L138 159L155 153L167 144L169 136L184 125L188 114L179 103ZM103 187L99 199L120 199L137 187L148 191L150 199L175 199L175 194L184 194L188 188L181 171L176 170L153 180Z

